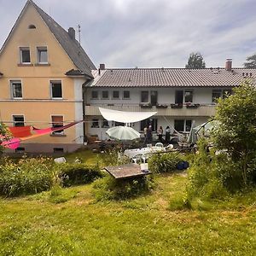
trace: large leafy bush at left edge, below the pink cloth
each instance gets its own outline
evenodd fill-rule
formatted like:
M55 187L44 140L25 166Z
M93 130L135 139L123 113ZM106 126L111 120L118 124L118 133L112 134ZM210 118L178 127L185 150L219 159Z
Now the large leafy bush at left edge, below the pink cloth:
M15 196L49 190L55 182L52 161L45 158L3 160L0 166L0 195Z

